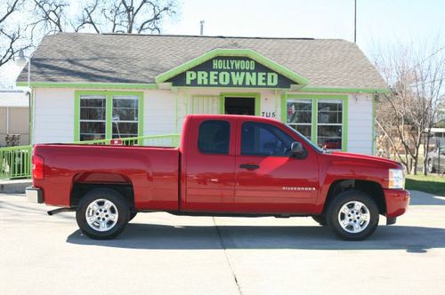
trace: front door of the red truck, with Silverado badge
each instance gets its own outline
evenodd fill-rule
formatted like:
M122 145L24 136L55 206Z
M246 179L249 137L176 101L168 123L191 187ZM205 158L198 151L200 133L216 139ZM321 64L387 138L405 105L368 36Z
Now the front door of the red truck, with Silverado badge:
M317 155L296 134L281 128L239 121L235 211L312 212L319 191ZM306 146L304 159L289 156L293 141Z

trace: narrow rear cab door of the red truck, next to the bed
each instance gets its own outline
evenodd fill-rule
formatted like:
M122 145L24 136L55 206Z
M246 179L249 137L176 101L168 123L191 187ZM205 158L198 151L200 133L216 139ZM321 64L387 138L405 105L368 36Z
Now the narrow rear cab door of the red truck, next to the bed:
M232 211L236 120L200 116L192 120L182 165L186 170L182 211Z

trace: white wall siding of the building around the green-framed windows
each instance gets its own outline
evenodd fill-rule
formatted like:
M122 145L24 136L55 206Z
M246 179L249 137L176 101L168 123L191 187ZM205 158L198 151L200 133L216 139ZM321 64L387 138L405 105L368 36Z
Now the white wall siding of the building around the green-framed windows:
M219 101L221 92L259 92L260 116L272 116L274 113L277 120L281 119L281 93L271 90L210 88L178 88L173 91L145 90L143 92L143 134L180 133L185 116L193 113L191 106L194 98L195 102L202 100L197 100L196 97ZM33 142L73 141L75 89L36 89L35 93ZM212 106L216 105L217 102L214 101ZM371 95L349 95L347 151L372 154L372 115Z

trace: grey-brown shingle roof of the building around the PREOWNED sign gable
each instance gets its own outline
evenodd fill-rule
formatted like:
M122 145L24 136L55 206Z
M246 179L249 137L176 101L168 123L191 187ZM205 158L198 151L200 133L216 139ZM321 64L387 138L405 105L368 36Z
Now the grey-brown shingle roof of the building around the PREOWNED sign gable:
M359 47L344 40L77 33L44 37L31 60L31 82L154 84L215 48L255 50L309 79L308 87L387 88ZM18 78L24 81L26 68Z

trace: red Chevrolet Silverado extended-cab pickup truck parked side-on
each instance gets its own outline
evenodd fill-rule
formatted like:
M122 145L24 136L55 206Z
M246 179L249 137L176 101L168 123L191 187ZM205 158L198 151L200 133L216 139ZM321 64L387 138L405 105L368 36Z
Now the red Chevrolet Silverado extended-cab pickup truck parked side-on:
M137 212L312 216L362 240L379 215L395 223L409 204L400 163L329 152L257 116L187 116L179 148L36 145L28 199L76 211L94 239L119 235Z

